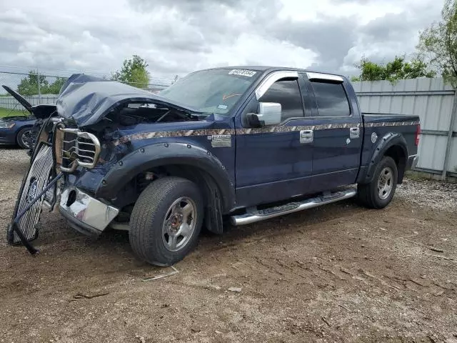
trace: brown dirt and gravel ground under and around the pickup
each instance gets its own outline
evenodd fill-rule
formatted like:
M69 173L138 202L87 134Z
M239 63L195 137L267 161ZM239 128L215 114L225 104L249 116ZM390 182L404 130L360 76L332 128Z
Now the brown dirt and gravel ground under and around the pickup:
M1 227L27 163L0 151ZM171 269L136 260L127 234L94 241L45 213L41 254L0 247L0 341L455 342L456 207L435 206L455 191L419 187L381 211L341 202L203 234L152 281Z

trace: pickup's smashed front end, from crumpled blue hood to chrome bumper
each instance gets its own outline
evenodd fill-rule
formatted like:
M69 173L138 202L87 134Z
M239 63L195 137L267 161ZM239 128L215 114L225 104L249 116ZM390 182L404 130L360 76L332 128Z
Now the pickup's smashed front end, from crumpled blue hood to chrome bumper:
M42 209L59 209L71 227L90 236L118 216L121 206L96 197L96 190L110 166L130 152L115 144L123 128L198 120L192 109L160 96L85 75L69 78L56 109L58 116L41 125L7 231L10 244L22 243L32 254Z

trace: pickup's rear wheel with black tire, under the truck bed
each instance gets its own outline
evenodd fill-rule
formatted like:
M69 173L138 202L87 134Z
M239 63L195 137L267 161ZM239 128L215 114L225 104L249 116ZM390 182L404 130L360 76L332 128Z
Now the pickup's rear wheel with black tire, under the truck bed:
M386 174L386 171L391 171L391 189L389 192L383 192L382 189L378 189L378 184L383 184L382 178ZM383 175L381 175L381 173ZM381 181L380 181L381 179ZM397 187L398 181L398 169L395 161L389 156L384 156L383 159L376 166L376 170L373 175L373 180L369 184L358 184L358 201L370 209L383 209L392 201L393 194ZM388 182L386 182L386 185Z

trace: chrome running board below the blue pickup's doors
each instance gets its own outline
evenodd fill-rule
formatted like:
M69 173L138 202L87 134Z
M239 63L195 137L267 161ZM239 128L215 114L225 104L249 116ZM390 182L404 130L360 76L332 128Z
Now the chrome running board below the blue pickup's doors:
M303 211L303 209L311 209L313 207L331 204L332 202L339 202L340 200L352 198L356 194L356 189L345 189L343 191L306 199L301 202L289 202L288 204L281 206L268 207L267 209L257 209L256 207L251 207L246 209L245 214L231 216L231 224L238 226L260 222L262 220L283 216L284 214Z

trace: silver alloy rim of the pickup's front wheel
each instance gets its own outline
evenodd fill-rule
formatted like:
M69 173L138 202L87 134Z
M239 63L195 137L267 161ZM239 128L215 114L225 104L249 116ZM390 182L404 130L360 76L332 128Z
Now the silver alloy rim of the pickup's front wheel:
M162 226L162 241L166 249L177 252L189 243L197 222L196 204L188 197L181 197L171 204Z

